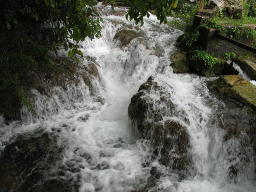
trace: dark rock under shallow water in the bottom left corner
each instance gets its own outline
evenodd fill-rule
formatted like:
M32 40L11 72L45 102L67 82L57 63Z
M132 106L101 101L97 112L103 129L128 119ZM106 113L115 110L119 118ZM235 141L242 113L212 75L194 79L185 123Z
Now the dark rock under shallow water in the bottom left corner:
M77 186L62 179L64 172L46 172L63 158L64 145L57 144L54 133L36 130L34 135L20 135L7 145L0 156L0 191L73 192ZM57 168L57 167L55 167ZM62 168L64 170L64 167ZM61 169L59 169L61 170ZM72 171L70 169L70 171ZM74 171L74 170L73 170Z

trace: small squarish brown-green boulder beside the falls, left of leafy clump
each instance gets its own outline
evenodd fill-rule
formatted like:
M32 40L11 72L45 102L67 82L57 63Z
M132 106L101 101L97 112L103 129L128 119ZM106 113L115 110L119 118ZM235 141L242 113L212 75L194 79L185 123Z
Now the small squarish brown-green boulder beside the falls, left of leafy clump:
M170 57L171 66L174 73L188 73L190 69L187 64L187 54L185 53L173 53Z

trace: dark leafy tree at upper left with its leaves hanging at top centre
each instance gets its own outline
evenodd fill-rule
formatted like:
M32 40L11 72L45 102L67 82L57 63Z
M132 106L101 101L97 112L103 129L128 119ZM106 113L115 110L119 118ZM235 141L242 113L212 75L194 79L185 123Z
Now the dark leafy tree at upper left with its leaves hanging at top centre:
M112 4L118 0L108 1ZM122 2L122 1L121 1ZM129 3L128 0L123 0ZM100 38L103 19L97 0L2 0L0 2L0 90L17 87L22 78L52 66L49 52L81 55L77 43ZM141 22L154 9L160 22L178 0L134 0L126 18Z

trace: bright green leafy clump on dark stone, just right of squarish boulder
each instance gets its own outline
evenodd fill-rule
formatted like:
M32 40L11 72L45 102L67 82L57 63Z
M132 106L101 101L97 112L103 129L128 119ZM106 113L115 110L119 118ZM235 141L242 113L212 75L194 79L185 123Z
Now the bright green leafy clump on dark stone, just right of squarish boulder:
M208 68L212 67L218 62L215 57L208 55L205 51L202 50L194 50L191 61L194 61L197 64L204 64Z

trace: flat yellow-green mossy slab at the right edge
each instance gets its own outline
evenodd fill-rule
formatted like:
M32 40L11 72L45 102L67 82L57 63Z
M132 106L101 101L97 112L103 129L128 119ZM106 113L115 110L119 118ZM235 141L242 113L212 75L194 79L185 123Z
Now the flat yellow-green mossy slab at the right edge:
M246 106L256 110L256 86L238 75L222 76L213 87Z

